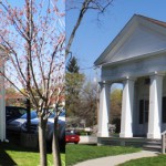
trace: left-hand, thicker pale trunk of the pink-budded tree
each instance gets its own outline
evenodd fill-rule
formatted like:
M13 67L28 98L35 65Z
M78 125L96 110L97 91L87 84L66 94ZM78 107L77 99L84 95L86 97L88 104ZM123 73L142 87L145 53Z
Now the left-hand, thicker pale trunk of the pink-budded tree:
M39 117L39 149L40 149L40 166L46 166L46 141L45 141L46 121Z

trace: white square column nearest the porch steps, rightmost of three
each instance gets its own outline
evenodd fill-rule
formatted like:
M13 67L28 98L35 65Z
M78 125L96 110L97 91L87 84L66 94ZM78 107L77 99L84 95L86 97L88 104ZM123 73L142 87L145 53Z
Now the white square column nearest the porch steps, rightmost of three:
M152 75L147 138L160 138L163 75Z

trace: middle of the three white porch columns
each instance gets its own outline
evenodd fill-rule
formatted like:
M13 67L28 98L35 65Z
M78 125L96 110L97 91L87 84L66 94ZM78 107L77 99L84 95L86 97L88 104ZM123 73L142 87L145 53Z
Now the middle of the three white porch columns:
M128 77L124 81L120 137L133 137L134 82Z

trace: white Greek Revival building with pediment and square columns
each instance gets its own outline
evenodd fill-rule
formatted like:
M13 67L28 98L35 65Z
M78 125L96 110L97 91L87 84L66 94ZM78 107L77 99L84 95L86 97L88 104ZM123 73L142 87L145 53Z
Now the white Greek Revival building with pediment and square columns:
M123 83L120 137L166 129L166 22L135 14L94 62L101 66L98 137L108 137L110 87Z

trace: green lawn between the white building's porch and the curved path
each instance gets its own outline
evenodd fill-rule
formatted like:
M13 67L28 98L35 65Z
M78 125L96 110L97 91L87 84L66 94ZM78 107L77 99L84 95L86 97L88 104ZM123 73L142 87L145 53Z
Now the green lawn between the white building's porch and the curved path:
M66 153L66 166L72 166L79 162L114 156L120 154L135 153L141 148L122 147L122 146L95 146L95 145L74 145L68 144L65 147Z

